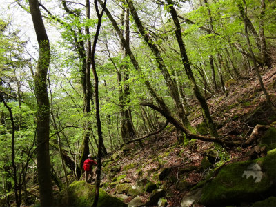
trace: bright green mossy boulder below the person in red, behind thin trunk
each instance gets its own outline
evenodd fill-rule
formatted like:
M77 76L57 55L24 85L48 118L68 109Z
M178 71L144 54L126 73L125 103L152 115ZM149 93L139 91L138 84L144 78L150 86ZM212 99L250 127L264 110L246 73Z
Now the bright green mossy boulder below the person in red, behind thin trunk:
M55 206L92 206L95 198L95 186L85 181L75 181L55 197ZM111 197L104 190L99 191L97 206L127 206L116 197Z

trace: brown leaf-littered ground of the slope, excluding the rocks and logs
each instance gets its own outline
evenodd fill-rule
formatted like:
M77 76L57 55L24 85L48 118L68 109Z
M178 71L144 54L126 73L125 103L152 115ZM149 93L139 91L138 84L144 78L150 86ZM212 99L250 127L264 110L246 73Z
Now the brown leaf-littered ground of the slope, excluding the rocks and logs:
M266 90L268 90L273 103L276 103L276 67L274 66L270 70L261 70L261 73ZM256 124L271 124L276 121L275 115L266 106L266 97L259 86L255 72L248 71L246 78L228 84L227 95L221 94L208 99L211 115L221 137L245 141ZM195 104L197 103L195 102ZM197 126L203 121L199 108L191 113L189 118L193 119L193 126ZM221 149L225 150L226 159L230 159L230 163L231 160L247 160L251 147ZM214 144L199 140L190 141L186 145L179 144L175 128L169 125L159 135L144 139L142 148L137 143L128 144L130 152L119 151L120 158L110 162L108 168L121 166L121 171L116 174L116 177L126 175L120 182L128 182L133 186L139 179L154 180L156 172L160 172L164 168L172 168L172 174L179 181L179 169L185 166L199 166L206 150L210 148L214 148ZM218 157L218 159L222 161L223 157ZM193 186L204 179L206 171L188 172L186 181ZM112 178L106 175L103 183L111 182ZM188 190L177 190L175 182L168 180L159 181L159 186L166 190L168 206L180 206L181 198L188 193ZM107 186L105 190L110 194L116 193L115 186ZM145 193L141 197L146 201L149 193ZM128 203L131 199L133 197L126 197L124 201Z

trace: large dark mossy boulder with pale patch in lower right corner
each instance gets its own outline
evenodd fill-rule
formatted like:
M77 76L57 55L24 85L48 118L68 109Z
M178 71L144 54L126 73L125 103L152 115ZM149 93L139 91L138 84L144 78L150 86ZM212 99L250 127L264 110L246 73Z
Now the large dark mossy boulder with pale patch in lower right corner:
M254 161L221 168L204 186L199 202L204 206L240 205L273 195L276 186L276 150Z

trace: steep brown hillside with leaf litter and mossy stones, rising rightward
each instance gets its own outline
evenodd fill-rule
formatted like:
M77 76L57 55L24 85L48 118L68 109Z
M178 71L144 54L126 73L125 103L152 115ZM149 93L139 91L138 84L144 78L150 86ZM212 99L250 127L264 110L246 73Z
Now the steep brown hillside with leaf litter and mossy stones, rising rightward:
M262 78L275 103L276 67L268 71L262 70ZM257 124L276 127L275 122L273 123L276 116L266 106L266 99L253 71L248 79L230 82L227 92L227 96L221 95L208 100L219 135L225 139L246 140ZM190 115L195 117L193 126L201 123L202 120L197 119L199 115L197 110ZM265 132L266 130L261 131L259 138ZM276 142L276 135L271 136ZM169 125L158 135L144 139L142 147L138 143L128 144L112 155L115 160L110 161L112 158L108 157L103 161L103 173L106 175L102 181L103 189L128 203L135 194L127 193L127 186L146 185L147 181L153 181L158 188L166 190L168 206L180 206L181 199L199 181L204 180L210 170L250 159L252 148L258 143L259 141L255 141L248 148L227 149L199 140L179 144L175 128ZM208 150L218 152L213 164L204 158ZM150 193L141 193L140 197L146 202Z

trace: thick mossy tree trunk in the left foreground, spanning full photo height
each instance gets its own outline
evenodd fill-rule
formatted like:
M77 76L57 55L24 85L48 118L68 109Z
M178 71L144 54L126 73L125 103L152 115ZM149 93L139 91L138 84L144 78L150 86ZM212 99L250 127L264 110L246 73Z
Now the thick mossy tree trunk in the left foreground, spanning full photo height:
M39 59L34 75L37 97L37 172L41 206L52 206L52 179L49 155L50 104L47 91L47 71L50 64L50 43L37 0L29 0L30 13L39 43Z

